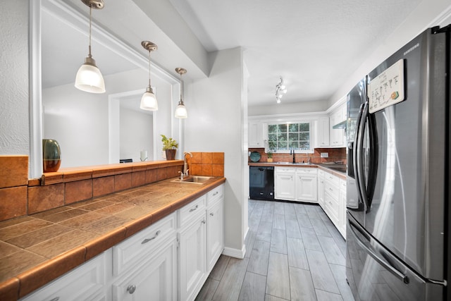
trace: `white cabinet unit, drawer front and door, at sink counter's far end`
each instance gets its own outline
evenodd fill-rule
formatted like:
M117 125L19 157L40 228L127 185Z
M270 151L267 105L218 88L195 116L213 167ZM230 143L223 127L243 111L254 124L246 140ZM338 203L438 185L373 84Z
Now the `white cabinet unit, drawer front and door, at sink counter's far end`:
M224 186L206 195L206 267L210 273L224 250Z

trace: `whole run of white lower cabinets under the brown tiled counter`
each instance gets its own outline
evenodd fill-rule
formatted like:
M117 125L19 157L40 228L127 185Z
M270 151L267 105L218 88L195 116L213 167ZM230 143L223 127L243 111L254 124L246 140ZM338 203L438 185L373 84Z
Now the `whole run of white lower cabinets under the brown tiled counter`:
M194 300L223 252L223 187L21 300Z

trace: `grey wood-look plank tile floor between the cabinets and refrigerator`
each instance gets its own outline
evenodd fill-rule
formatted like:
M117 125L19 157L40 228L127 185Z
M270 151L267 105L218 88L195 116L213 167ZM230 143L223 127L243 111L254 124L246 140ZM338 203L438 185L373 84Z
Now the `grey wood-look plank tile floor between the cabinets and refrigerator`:
M315 204L249 200L246 255L221 255L196 300L354 301L346 242Z

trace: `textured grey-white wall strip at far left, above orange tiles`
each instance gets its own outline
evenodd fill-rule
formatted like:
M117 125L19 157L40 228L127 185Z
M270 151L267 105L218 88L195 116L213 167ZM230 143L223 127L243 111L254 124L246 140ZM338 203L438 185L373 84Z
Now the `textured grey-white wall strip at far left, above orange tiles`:
M0 154L30 154L28 1L0 1Z

